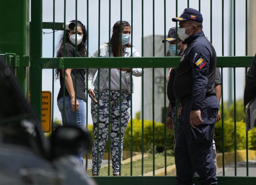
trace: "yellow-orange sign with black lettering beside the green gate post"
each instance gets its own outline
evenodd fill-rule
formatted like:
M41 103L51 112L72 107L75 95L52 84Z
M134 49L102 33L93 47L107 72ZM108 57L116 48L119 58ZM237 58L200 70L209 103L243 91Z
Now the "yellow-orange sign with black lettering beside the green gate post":
M30 91L28 102L30 103ZM42 130L49 133L52 130L52 92L42 91Z

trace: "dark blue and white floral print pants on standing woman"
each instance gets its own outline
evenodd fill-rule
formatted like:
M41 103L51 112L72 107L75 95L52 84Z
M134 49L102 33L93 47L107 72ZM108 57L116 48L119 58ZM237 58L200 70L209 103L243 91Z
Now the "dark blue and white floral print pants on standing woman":
M110 108L109 108L109 93L110 93ZM98 97L98 92L94 89L95 99ZM121 114L120 114L120 99L121 99ZM109 111L110 110L110 124ZM98 103L91 101L91 117L93 121L94 142L92 146L92 174L99 174L101 161L104 154L106 142L108 139L108 129L111 126L111 159L113 174L119 174L119 156L121 161L123 157L123 136L130 119L130 94L128 90L102 90L99 93L99 133L97 133ZM119 129L121 116L121 148L119 149ZM97 156L97 134L99 134L99 158ZM97 161L99 161L97 167ZM97 170L98 169L98 170Z

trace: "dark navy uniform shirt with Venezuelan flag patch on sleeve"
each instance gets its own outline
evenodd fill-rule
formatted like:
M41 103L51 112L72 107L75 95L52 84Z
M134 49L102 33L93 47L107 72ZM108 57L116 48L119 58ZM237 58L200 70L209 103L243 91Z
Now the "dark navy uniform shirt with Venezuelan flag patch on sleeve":
M192 110L199 110L206 96L216 95L216 52L204 32L192 35L185 42L188 47L174 79L174 95L182 104L191 100Z

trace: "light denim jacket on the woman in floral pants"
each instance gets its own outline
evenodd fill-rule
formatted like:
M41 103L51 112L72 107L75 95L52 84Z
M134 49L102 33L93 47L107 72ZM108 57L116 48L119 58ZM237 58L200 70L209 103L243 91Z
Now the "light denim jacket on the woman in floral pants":
M108 44L104 43L100 46L100 57L109 57L109 52L108 52ZM125 46L124 47L124 53L122 57L130 57L131 56L131 48ZM98 57L98 49L96 49L96 51L91 55L91 57ZM111 53L111 57L113 57L112 53ZM132 57L140 57L139 52L137 51L137 49L135 49L133 47L133 55ZM92 89L92 85L98 89L98 83L97 80L94 81L93 83L93 79L95 76L95 73L98 69L97 68L90 68L89 69L89 74L88 74L88 90ZM104 84L106 83L106 78L108 76L108 68L101 68L100 69L100 82L99 82L99 90L100 92L102 91ZM143 70L144 71L144 70ZM142 69L141 68L133 68L132 69L132 75L133 76L142 76ZM130 93L130 73L126 72L125 74L126 77L126 82L127 82L127 86L128 86L128 91ZM98 79L98 74L96 76L96 79ZM133 82L133 79L132 79ZM86 85L86 84L85 84ZM132 87L132 93L134 92L134 85ZM130 93L131 94L131 93Z

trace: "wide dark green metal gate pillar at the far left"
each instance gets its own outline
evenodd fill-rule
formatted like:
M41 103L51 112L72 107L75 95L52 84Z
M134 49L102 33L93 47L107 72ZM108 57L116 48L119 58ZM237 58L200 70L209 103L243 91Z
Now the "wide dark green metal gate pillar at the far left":
M0 53L16 54L13 67L23 93L28 97L29 87L29 0L1 1Z

